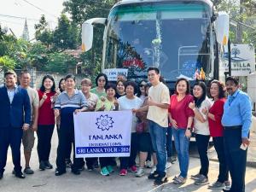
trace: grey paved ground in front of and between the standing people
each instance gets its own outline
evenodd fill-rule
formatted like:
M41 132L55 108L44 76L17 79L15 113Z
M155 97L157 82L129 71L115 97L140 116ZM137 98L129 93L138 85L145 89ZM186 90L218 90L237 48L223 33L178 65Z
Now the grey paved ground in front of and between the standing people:
M254 132L255 133L255 132ZM55 153L57 145L57 136L54 133L53 145L50 154L50 161L55 165ZM256 143L256 141L253 141ZM189 175L195 174L199 170L199 159L196 157L196 150L193 144L190 148L191 156L189 164ZM251 148L253 150L254 156L256 148ZM22 148L23 150L23 148ZM210 155L214 159L214 150L210 149ZM24 164L24 157L22 155L22 165ZM11 153L9 150L8 163L6 166L6 171L4 172L4 177L0 180L0 191L1 192L94 192L94 191L104 191L104 192L115 192L115 191L132 191L132 192L144 192L144 191L220 191L220 190L210 190L207 186L195 186L193 180L189 179L187 183L182 186L177 186L172 183L172 177L178 173L177 162L168 170L169 183L166 183L158 188L153 186L153 182L148 180L147 176L137 178L134 173L129 172L126 177L120 177L118 175L118 169L109 176L103 177L100 175L99 171L94 172L84 171L79 176L73 175L69 170L67 174L61 177L55 177L54 169L46 170L44 172L38 170L38 156L36 148L32 152L32 168L35 170L33 175L29 175L26 179L19 179L11 174L13 170L13 165L11 161ZM150 170L148 169L147 172ZM209 179L210 182L216 181L218 177L218 162L212 160L210 162L210 172ZM256 168L247 166L247 176L246 176L246 191L256 192Z

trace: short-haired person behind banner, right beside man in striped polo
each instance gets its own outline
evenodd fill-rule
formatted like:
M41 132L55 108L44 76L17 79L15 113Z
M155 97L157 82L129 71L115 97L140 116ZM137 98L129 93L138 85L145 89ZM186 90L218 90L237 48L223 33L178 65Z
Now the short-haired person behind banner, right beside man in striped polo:
M81 90L88 103L88 111L95 111L96 103L98 101L98 96L95 93L90 92L91 85L92 83L90 79L83 79L81 81L81 86L82 86ZM93 166L94 163L97 162L97 158L94 158L94 157L85 158L85 161L86 161L86 166L88 171L92 171L94 169L94 166ZM84 167L84 163L81 166Z

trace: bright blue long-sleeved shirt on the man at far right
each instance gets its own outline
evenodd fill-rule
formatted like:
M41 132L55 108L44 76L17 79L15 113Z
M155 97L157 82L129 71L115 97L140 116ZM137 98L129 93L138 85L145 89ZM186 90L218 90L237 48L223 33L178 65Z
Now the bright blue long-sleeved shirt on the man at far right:
M248 137L252 123L252 106L250 98L245 92L236 90L233 96L228 96L224 103L221 123L224 126L241 125L241 137Z

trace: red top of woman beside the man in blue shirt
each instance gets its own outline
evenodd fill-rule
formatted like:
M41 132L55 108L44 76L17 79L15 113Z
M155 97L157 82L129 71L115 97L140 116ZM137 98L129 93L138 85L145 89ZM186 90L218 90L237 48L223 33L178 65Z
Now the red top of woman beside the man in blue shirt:
M208 118L210 135L212 137L223 137L224 128L221 125L221 118L224 112L225 98L221 98L213 103L212 108L209 109L209 113L214 115L215 120Z

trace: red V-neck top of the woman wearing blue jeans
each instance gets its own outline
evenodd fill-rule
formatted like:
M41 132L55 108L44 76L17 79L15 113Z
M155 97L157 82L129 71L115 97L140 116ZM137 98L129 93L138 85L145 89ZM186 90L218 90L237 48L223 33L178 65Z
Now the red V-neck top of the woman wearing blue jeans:
M186 129L188 125L189 117L194 117L194 112L189 108L189 102L193 102L194 97L186 95L181 101L177 102L177 95L171 96L171 105L169 113L172 115L172 119L177 122L177 127L180 129Z

